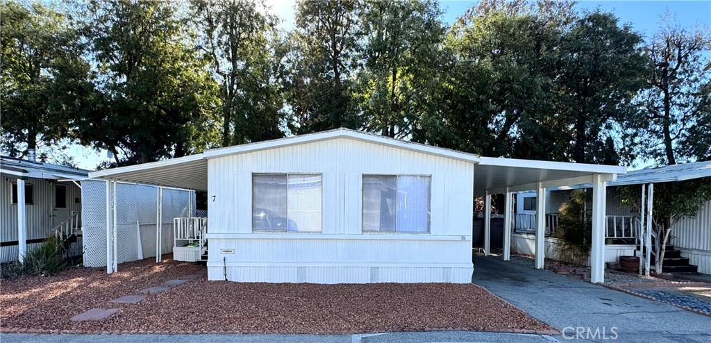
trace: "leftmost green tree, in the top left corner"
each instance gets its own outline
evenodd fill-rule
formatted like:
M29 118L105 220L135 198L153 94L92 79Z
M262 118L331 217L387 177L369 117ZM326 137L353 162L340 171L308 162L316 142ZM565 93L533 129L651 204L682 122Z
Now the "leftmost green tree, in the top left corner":
M92 89L76 30L41 4L2 1L0 17L2 149L18 155L58 144Z

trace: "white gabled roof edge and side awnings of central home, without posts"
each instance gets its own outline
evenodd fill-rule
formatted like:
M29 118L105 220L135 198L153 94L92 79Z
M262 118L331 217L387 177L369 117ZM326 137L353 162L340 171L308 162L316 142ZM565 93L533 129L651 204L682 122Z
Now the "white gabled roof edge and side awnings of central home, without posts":
M624 174L625 172L624 167L602 166L597 164L479 157L476 154L458 152L426 144L405 142L399 139L366 134L354 130L338 129L284 139L274 139L266 142L237 145L235 147L212 149L201 154L161 162L95 171L90 173L89 176L91 178L127 181L137 184L154 184L157 186L206 191L208 188L207 160L210 158L336 138L355 139L475 164L475 194L483 194L486 190L489 190L491 194L502 193L506 191L506 187L510 187L510 191L535 189L537 182L544 183L545 187L582 184L592 182L592 176L594 174L607 174L606 180L611 180L614 179L615 174Z

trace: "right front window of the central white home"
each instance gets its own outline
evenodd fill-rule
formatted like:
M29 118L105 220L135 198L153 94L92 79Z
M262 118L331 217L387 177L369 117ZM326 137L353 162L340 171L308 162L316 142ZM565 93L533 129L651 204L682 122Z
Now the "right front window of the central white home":
M429 232L430 176L363 175L363 232Z

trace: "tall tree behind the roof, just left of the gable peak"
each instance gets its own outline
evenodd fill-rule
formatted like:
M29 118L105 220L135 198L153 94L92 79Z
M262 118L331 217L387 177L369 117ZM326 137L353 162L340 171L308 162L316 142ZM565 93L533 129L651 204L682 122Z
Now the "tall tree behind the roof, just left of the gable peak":
M354 0L296 3L296 27L283 58L292 132L361 126L352 93L362 10L362 3Z

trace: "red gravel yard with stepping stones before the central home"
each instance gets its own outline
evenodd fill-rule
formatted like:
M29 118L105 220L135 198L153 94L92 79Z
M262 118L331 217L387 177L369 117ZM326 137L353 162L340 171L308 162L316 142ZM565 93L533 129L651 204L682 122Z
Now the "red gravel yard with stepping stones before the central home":
M60 275L3 280L0 325L58 332L363 333L461 329L552 330L547 324L476 285L442 283L367 285L270 284L189 280L137 303L138 295L200 265L146 259L119 273L77 268ZM104 320L75 322L92 308L119 308Z

